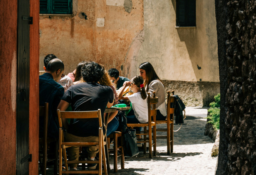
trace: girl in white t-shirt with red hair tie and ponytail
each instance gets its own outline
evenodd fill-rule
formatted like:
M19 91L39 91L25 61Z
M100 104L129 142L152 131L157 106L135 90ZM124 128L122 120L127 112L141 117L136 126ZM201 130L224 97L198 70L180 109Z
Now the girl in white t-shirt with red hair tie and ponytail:
M126 81L120 88L118 99L129 99L132 104L135 116L127 116L127 123L146 123L148 122L147 95L141 76L131 78L131 82ZM127 86L131 86L132 95L123 97L123 91Z

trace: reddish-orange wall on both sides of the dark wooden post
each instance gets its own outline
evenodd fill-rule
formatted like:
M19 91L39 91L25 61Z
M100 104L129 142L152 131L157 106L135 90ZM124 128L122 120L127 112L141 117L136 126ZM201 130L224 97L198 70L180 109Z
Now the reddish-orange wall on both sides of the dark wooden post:
M0 169L16 174L17 0L0 4ZM39 0L30 0L30 175L38 174Z

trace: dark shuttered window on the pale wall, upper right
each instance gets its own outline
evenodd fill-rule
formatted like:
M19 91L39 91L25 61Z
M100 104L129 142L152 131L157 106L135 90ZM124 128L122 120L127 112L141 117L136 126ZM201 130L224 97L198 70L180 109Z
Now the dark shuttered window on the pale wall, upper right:
M196 0L176 0L176 26L196 26Z

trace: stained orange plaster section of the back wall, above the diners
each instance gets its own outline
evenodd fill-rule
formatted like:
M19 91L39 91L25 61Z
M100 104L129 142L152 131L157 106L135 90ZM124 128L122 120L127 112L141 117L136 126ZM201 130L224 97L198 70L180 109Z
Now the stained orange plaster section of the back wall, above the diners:
M66 74L80 61L93 60L123 75L127 51L143 30L143 0L73 0L73 13L40 16L39 69L44 56L53 53L64 62Z

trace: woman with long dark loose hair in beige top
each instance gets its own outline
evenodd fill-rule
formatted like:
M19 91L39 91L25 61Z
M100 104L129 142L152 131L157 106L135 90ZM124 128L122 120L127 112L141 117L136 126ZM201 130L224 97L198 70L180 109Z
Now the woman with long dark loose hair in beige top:
M154 67L148 63L144 62L140 64L140 76L144 79L144 86L146 92L150 93L150 97L153 96L153 91L156 92L156 97L158 97L157 108L157 120L165 120L166 113L166 103L165 103L165 86L157 73L154 71Z

